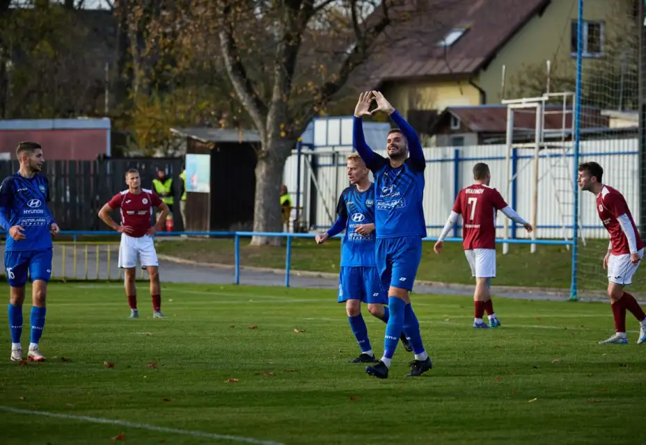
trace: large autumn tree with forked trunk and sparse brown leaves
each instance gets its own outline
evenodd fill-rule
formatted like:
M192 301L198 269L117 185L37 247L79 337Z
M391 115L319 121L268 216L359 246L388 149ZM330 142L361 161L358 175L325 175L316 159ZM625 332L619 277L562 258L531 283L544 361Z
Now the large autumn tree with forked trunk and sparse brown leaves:
M214 56L260 135L253 229L280 232L278 196L297 138L369 60L404 1L184 2L189 8L176 26L202 51L212 51L216 38ZM280 241L255 236L251 243Z

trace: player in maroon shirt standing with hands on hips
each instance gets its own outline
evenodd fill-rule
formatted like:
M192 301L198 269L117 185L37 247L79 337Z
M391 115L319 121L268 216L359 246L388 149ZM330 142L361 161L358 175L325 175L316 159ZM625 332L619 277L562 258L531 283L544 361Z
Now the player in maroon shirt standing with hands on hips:
M119 246L119 267L125 269L125 293L130 305L130 318L139 318L136 297L137 258L141 267L150 277L150 296L152 296L152 317L164 318L161 314L161 285L159 284L159 261L155 252L152 236L166 221L169 209L161 198L152 191L141 188L139 171L128 170L125 174L127 190L117 193L99 211L99 218L113 230L121 234ZM150 223L153 208L159 209L157 222ZM120 209L121 225L110 216L114 209Z

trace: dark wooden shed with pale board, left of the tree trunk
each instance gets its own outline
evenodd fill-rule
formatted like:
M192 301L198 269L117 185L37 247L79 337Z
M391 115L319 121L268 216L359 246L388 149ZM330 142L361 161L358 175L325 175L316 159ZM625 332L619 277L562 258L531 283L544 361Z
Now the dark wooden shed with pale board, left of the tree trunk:
M186 138L185 230L251 230L258 131L207 127L171 131Z

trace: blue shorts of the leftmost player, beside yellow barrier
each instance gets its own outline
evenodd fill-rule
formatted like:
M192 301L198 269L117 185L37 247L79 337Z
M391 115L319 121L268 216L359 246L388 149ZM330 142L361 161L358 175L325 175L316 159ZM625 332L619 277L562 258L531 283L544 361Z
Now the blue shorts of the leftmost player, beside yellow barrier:
M4 252L4 270L11 287L22 287L27 282L27 271L31 282L49 282L52 277L52 249L10 250Z

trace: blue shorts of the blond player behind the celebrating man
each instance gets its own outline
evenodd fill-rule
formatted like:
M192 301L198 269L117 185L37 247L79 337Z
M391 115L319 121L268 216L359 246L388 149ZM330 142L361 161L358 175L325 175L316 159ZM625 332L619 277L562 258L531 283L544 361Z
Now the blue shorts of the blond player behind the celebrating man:
M364 303L388 304L388 296L379 282L376 267L342 267L339 273L338 302L361 300Z

